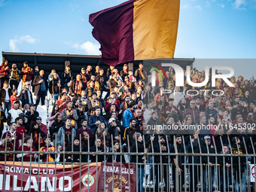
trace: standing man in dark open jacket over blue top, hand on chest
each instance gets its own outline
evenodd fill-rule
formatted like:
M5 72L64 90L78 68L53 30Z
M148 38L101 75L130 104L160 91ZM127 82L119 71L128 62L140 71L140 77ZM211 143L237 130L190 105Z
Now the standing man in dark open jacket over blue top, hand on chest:
M41 98L41 105L44 105L45 96L48 90L47 78L44 77L44 70L40 70L39 76L35 77L33 81L33 86L35 86L35 96L36 102L35 105L38 105Z

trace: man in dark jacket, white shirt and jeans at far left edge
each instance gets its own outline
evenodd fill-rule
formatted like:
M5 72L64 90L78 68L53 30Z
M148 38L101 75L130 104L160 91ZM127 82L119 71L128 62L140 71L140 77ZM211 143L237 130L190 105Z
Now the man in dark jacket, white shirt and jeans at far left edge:
M1 89L1 102L4 107L4 112L11 109L11 88L9 87L8 81L4 81L4 87Z

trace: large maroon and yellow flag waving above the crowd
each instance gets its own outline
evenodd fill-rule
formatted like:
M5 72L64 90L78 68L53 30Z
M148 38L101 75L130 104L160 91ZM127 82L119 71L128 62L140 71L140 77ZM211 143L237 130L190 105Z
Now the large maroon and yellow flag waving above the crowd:
M102 62L116 66L142 59L172 58L179 0L130 0L90 14Z

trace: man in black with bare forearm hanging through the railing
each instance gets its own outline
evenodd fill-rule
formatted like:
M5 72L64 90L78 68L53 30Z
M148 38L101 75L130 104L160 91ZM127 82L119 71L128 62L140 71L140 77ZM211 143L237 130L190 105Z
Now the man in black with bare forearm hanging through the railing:
M182 144L182 141L181 141L181 135L176 135L175 136L175 142L176 142L176 146L177 146L177 152L178 153L184 153L185 152L185 148ZM175 145L172 146L172 149L170 151L170 153L175 153ZM186 157L185 156L178 156L178 162L177 162L177 159L176 159L176 156L173 155L172 157L172 163L173 163L173 166L172 166L172 179L173 179L173 182L174 182L174 191L176 191L176 179L178 178L179 179L179 186L180 186L180 183L181 183L181 186L184 184L184 173L185 173L185 170L184 170L184 163L185 163L185 159ZM176 167L178 167L178 175L176 175Z

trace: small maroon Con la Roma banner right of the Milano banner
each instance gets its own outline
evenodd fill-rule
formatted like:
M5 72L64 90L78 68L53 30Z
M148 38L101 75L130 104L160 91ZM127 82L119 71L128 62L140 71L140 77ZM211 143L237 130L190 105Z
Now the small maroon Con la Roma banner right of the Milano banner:
M114 163L114 166L113 163L102 163L99 176L99 192L135 191L136 185L135 163L130 163L130 166L129 163Z

